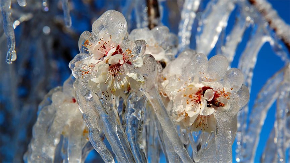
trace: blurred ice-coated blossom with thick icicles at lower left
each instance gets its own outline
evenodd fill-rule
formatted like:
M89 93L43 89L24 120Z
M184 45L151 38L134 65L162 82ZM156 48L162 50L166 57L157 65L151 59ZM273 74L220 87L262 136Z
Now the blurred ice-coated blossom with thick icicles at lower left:
M88 142L88 128L84 124L74 97L73 77L63 87L52 89L39 105L39 116L33 127L33 139L24 155L26 162L57 162L59 143L66 139L66 162L83 162L82 149ZM61 145L60 145L61 146ZM42 149L42 150L38 150ZM56 155L55 155L56 154Z

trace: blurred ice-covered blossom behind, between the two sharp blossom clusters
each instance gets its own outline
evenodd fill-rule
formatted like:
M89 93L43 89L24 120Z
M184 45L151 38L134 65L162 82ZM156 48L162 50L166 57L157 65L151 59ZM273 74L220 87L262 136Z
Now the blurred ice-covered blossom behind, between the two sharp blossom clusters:
M174 59L174 55L177 53L178 38L175 34L170 33L166 26L157 26L151 30L149 28L134 29L128 38L145 40L145 54L151 54L156 61L163 61L165 64Z

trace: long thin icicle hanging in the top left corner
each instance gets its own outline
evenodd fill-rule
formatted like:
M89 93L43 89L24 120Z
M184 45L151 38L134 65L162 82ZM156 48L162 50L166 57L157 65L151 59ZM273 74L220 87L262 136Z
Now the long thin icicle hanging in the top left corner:
M3 16L3 27L8 42L8 52L6 56L6 63L12 64L17 58L15 51L15 36L13 29L13 22L11 17L11 0L1 1L1 14Z

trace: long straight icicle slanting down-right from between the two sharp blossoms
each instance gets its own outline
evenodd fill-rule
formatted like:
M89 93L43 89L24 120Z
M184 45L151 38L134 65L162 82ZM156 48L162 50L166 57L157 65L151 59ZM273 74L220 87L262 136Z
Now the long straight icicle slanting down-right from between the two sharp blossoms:
M145 95L150 101L155 114L163 128L163 131L168 136L168 139L171 141L175 152L180 156L183 162L193 162L187 153L186 149L181 142L179 135L176 131L176 128L168 116L166 108L162 102L160 94L157 88L154 85L154 79L156 77L156 61L152 55L145 55L144 56L144 65L142 66L141 74L146 76L145 83Z

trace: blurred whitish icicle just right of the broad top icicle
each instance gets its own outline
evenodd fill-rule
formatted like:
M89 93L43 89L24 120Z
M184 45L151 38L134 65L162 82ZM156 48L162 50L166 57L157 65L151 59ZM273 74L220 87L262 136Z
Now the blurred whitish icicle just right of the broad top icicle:
M244 10L244 8L242 10ZM231 33L226 37L226 44L222 47L222 55L226 56L228 59L229 67L231 67L238 44L242 41L244 31L247 27L246 20L249 21L249 19L250 17L245 17L244 12L239 12Z

